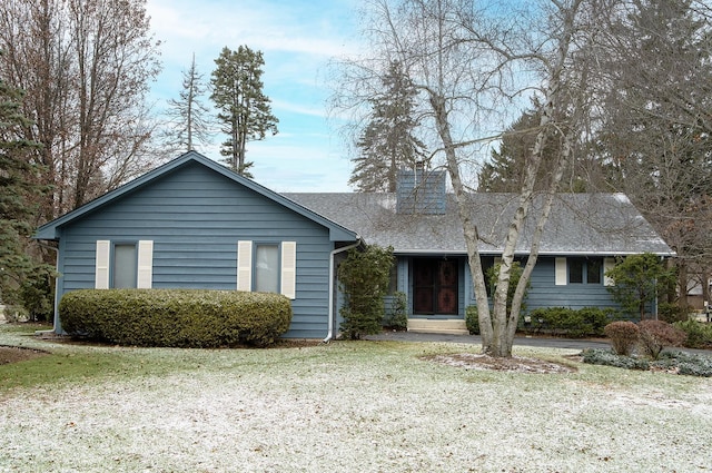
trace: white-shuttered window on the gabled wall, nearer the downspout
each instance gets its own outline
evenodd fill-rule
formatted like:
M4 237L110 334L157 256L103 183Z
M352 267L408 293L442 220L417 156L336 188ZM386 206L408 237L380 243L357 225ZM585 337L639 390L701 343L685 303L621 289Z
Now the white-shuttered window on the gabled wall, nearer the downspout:
M296 242L237 243L237 290L255 290L296 297Z

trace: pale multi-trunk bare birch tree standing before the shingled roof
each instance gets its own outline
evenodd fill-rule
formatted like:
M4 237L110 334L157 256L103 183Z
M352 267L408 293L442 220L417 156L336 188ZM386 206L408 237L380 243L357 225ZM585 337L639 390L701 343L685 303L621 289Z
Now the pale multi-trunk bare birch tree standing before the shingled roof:
M542 1L525 11L517 4L493 3L477 8L469 0L386 0L368 3L374 39L369 57L345 65L345 90L356 101L367 83L397 59L419 90L423 122L437 138L443 166L447 169L468 254L477 300L483 351L511 356L522 299L538 256L542 233L564 171L581 137L587 66L585 45L595 31L593 2L584 0ZM508 9L508 10L507 10ZM505 11L507 10L507 11ZM355 79L355 80L350 80ZM501 270L493 308L490 309L482 260L479 231L472 211L469 187L463 178L473 145L486 139L484 118L496 107L513 107L512 98L538 96L541 117L530 149L517 204L508 230L500 242ZM490 115L488 115L490 114ZM496 136L501 131L495 132ZM541 176L543 154L550 140L558 152L548 160L548 185L542 191L544 205L530 215ZM507 292L516 248L527 219L535 221L530 256L516 287L512 309Z

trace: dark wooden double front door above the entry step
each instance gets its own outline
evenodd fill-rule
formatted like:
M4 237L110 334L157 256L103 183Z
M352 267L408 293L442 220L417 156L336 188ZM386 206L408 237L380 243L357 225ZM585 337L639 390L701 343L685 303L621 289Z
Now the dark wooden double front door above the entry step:
M414 314L457 314L456 260L414 259L413 286Z

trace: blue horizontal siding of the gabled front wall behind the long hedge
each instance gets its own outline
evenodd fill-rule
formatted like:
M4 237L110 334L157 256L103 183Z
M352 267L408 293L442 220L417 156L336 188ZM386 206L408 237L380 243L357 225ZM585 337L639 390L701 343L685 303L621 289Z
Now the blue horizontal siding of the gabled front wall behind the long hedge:
M62 228L60 295L93 287L98 239L152 240L155 288L210 289L236 289L238 240L296 242L287 336L326 335L329 230L205 166L180 167Z

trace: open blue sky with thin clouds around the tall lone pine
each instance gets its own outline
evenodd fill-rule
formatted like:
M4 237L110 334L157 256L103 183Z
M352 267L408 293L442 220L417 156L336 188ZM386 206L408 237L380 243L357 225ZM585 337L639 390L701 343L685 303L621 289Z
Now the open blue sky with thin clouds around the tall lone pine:
M151 89L156 107L178 98L192 53L206 81L224 47L247 45L265 57L264 92L279 134L248 144L255 180L277 191L348 191L349 157L328 118L328 62L357 48L358 0L148 0L164 70ZM206 104L209 98L204 97ZM216 136L200 149L220 159Z

